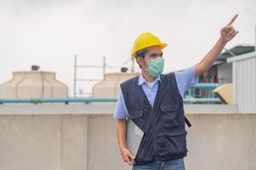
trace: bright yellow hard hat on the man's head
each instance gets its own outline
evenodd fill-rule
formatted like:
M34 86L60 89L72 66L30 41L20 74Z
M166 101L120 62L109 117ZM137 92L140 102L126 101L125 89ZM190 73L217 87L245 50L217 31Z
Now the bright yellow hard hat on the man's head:
M160 46L161 48L165 48L167 45L167 43L162 43L158 37L154 36L150 32L145 32L140 34L135 40L132 57L135 57L135 54L143 48L149 48L151 46Z

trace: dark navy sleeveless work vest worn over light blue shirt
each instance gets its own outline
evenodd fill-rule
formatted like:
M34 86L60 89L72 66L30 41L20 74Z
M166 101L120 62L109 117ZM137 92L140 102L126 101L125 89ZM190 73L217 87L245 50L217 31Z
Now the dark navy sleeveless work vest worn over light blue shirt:
M121 84L130 119L144 132L136 165L183 158L188 151L183 99L174 72L160 77L153 108L139 86L139 77Z

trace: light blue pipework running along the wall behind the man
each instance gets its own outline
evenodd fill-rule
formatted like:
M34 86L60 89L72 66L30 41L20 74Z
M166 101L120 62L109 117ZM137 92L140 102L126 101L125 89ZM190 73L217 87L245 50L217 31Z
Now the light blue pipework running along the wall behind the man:
M197 83L189 88L189 95L193 96L195 88L217 88L217 83ZM213 96L213 95L212 95ZM91 102L117 102L117 98L54 98L54 99L0 99L0 104L4 103L91 103ZM185 98L184 103L222 103L219 98Z

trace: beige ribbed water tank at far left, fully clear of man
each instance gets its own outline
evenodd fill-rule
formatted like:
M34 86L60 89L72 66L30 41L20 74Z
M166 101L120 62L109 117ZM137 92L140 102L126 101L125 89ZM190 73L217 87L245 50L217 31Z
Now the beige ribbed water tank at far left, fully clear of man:
M66 98L68 87L50 71L14 71L13 79L0 85L1 99Z

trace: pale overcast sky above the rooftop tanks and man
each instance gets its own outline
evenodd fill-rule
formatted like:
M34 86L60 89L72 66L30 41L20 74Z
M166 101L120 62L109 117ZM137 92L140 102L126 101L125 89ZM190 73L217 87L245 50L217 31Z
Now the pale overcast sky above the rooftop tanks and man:
M40 65L72 94L75 54L80 65L101 65L105 55L112 66L106 71L119 71L145 31L168 43L164 72L185 69L207 54L234 14L240 33L226 48L254 43L255 0L0 0L0 83ZM77 77L101 78L102 71L80 70Z

